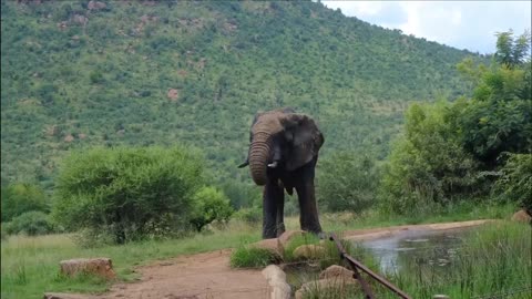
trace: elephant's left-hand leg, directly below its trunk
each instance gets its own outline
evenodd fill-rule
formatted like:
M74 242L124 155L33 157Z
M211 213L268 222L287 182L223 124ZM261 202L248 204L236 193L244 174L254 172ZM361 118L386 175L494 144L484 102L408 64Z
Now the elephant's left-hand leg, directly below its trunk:
M283 189L277 184L266 183L263 196L263 239L277 237L279 194L283 194Z

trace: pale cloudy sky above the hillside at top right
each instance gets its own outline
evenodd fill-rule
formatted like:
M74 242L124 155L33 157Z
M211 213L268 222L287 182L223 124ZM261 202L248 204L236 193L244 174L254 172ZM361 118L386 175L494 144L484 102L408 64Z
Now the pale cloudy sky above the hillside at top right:
M482 54L495 51L495 32L531 28L532 1L321 1L347 17Z

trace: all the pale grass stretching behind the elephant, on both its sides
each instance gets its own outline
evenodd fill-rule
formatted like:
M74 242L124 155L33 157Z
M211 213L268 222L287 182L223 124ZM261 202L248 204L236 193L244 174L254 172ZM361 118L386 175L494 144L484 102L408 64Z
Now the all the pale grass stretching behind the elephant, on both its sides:
M439 216L417 216L413 218L381 215L367 212L361 215L321 215L323 227L327 231L382 227L402 224L441 223L479 218L504 218L512 207L461 206L441 213ZM297 229L298 217L287 217L288 229ZM44 291L101 292L109 283L94 278L64 279L58 275L59 261L70 258L109 257L120 280L137 278L135 266L178 255L196 254L222 248L238 247L260 238L260 226L232 221L224 229L212 234L197 234L190 238L132 243L124 246L98 248L78 247L69 235L41 237L11 236L1 245L1 298L41 298Z

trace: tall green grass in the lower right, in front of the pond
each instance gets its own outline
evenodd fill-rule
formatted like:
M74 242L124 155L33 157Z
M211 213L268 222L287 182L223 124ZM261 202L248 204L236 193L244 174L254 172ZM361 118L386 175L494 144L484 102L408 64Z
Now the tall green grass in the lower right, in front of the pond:
M469 235L458 259L448 271L419 260L401 265L385 276L412 298L531 298L532 229L529 225L500 221L485 225ZM362 254L364 264L375 262ZM371 268L371 267L370 267ZM377 268L372 268L374 270ZM377 298L397 298L382 286L372 283ZM306 298L339 298L340 290L316 290ZM364 298L357 295L342 298Z

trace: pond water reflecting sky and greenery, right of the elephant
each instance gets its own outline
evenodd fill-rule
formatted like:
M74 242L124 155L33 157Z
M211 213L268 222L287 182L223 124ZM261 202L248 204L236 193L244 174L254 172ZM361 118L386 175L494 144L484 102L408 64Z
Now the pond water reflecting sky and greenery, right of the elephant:
M459 257L468 231L470 229L405 230L361 245L377 258L381 272L395 272L412 265L448 271Z

